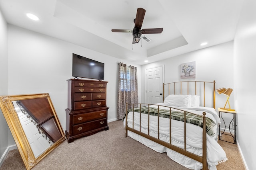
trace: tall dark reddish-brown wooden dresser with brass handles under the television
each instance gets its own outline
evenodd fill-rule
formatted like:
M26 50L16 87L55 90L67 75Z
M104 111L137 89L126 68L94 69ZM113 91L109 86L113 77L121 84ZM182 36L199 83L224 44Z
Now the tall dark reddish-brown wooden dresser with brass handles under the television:
M68 143L80 137L108 130L108 108L104 81L70 79L66 109Z

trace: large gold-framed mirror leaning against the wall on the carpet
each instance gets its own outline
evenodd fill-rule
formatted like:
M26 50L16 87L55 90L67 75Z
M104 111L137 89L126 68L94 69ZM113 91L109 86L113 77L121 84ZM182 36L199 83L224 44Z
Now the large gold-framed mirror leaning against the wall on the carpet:
M0 108L28 170L65 140L48 93L0 96Z

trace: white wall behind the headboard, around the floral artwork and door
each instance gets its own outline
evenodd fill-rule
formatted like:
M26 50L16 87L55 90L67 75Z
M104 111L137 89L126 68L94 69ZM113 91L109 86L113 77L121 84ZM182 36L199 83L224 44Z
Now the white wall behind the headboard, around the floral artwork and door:
M180 64L196 61L196 78L181 79ZM164 83L175 81L216 81L216 89L233 88L233 41L175 56L141 67L142 75L147 68L164 65ZM145 102L145 77L142 76L141 98ZM230 96L230 107L234 107L233 94ZM216 108L224 107L226 96L216 93ZM224 116L225 117L225 116ZM229 117L229 116L226 116ZM223 124L223 123L222 123Z

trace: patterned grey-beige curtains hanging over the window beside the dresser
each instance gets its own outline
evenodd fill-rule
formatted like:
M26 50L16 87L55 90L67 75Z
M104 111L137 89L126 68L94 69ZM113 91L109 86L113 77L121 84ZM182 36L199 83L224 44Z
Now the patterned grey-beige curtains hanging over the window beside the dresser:
M118 106L117 118L123 119L126 112L126 102L128 104L138 103L138 78L137 67L126 66L126 64L118 63ZM129 109L129 108L128 108Z

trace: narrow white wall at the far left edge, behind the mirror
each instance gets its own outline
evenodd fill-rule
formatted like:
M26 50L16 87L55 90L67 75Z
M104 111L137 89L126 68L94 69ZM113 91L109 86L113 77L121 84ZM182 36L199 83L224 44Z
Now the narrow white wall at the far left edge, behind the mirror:
M0 11L0 96L7 93L8 86L8 58L7 58L7 23ZM8 147L8 133L10 130L0 109L0 166L2 156Z

